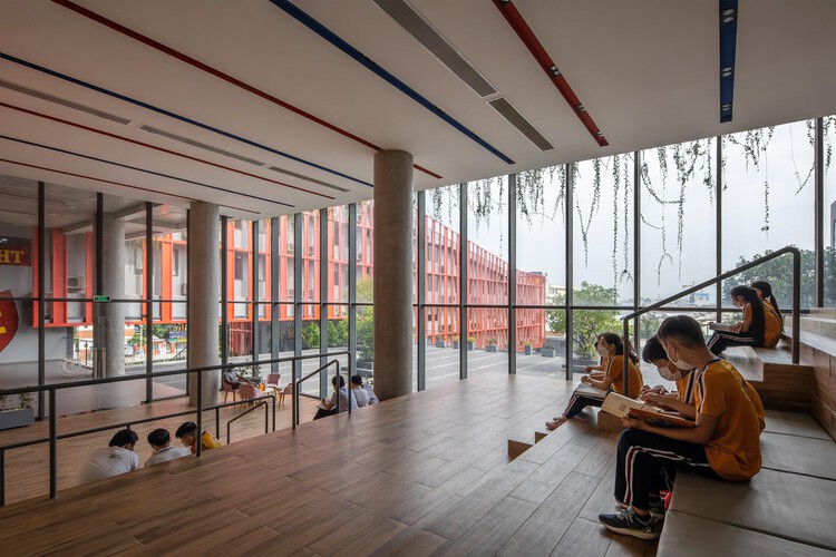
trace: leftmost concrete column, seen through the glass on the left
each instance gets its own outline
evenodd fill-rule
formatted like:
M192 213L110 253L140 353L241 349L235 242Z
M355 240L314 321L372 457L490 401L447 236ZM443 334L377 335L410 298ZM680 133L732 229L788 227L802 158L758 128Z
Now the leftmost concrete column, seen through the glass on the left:
M104 215L101 292L113 299L125 297L125 222ZM96 377L125 374L125 306L120 303L95 304L93 344L96 350Z

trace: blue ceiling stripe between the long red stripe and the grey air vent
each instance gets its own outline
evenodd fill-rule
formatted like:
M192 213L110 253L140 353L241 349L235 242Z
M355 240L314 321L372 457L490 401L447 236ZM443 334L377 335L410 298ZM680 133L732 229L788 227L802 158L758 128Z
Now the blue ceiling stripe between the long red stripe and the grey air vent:
M477 136L475 133L470 131L467 127L465 127L461 123L453 118L450 115L438 108L436 105L430 102L426 97L422 97L418 91L409 87L407 84L398 79L397 77L389 74L387 70L378 66L376 62L370 60L366 55L357 50L354 47L346 42L343 39L341 39L339 36L337 36L333 31L328 29L325 26L310 17L304 11L300 10L297 6L294 6L289 0L270 0L276 8L285 11L288 14L295 18L300 23L308 27L311 31L315 32L323 39L325 39L328 42L333 45L334 47L342 50L344 53L353 58L356 61L364 66L367 69L376 74L378 77L380 77L383 81L388 82L399 91L401 91L404 95L408 96L419 105L421 105L424 108L429 110L430 113L435 114L439 118L441 118L444 121L456 128L461 134L466 135L474 141L476 141L478 145L480 145L483 148L487 149L489 153L498 157L504 163L507 163L509 165L514 164L514 160L505 156L502 152L499 152L496 147L487 143L485 139Z

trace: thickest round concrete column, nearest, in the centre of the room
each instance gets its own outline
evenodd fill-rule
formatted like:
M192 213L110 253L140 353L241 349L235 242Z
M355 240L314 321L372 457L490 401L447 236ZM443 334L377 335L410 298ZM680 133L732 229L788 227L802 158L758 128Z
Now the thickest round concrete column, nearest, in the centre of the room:
M412 392L412 155L375 155L375 392Z

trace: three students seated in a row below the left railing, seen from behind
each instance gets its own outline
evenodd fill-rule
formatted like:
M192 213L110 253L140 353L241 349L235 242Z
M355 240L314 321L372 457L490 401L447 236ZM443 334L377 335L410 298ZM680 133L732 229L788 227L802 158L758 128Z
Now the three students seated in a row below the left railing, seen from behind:
M194 455L197 444L197 424L193 421L183 423L175 433L183 447L174 447L167 429L158 428L148 433L148 444L154 455L148 457L145 466L155 466L181 457ZM134 451L139 437L135 431L123 429L110 439L107 448L94 450L81 467L79 482L101 480L126 473L139 468L139 455ZM221 441L207 431L201 434L201 449L210 450L221 447Z

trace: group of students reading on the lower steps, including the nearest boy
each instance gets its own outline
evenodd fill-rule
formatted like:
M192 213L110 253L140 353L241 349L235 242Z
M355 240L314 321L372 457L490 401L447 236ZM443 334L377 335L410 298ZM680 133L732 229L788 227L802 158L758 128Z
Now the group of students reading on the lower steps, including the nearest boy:
M614 333L599 336L602 373L583 382L603 394L580 389L566 410L554 421L555 429L585 405L602 405L609 391L623 394L623 359L629 358L631 398L693 420L692 428L662 428L626 414L615 460L615 506L599 520L609 530L640 539L655 539L661 532L664 494L673 488L679 470L709 478L746 481L760 470L760 432L764 405L755 389L732 364L709 350L702 326L692 317L665 319L657 335L642 351L645 362L677 384L677 391L642 387L630 345ZM590 369L589 371L596 371Z

